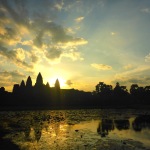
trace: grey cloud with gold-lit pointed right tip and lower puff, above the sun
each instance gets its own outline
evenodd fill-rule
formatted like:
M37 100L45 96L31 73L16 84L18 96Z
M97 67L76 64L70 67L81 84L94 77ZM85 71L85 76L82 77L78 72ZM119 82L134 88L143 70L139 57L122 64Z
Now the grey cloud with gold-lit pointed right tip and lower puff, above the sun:
M75 60L77 57L79 58L79 52L70 53L70 49L75 47L77 50L77 46L87 43L88 41L84 38L67 35L67 31L54 22L46 22L44 29L37 32L37 36L34 39L34 44L44 49L45 56L51 60L59 59L63 56Z

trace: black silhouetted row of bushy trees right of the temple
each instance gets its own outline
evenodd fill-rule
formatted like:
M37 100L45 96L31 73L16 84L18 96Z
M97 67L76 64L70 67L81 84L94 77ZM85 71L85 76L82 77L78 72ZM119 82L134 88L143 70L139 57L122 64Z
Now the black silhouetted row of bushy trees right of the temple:
M141 87L132 84L129 91L118 82L113 88L104 82L99 82L94 91L97 99L104 105L147 105L150 104L150 86Z

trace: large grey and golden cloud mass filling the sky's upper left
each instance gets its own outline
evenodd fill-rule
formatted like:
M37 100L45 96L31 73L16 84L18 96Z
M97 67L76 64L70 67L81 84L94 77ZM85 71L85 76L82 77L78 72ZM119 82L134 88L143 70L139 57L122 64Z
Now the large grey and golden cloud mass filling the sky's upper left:
M39 2L32 9L35 3L36 1L0 1L1 57L26 70L34 69L36 63L42 63L44 58L47 62L60 62L63 57L73 61L83 60L78 46L86 45L88 41L76 37L71 27L67 30L55 22L54 12L63 9L64 1ZM81 16L77 21L83 19ZM71 49L75 50L70 51Z

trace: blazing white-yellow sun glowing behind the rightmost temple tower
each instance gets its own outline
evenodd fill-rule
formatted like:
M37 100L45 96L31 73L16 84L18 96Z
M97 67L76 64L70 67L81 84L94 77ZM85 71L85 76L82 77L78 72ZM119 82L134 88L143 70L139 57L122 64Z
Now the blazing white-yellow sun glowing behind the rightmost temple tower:
M60 88L63 88L66 86L66 80L62 77L52 77L49 79L49 83L50 83L50 86L55 86L55 82L56 80L59 80L59 83L60 83Z

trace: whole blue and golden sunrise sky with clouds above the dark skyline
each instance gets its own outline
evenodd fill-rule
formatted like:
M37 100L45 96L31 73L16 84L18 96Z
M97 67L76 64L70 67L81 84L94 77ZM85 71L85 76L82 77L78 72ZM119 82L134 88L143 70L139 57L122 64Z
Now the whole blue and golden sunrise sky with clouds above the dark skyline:
M150 0L0 0L0 87L150 85Z

